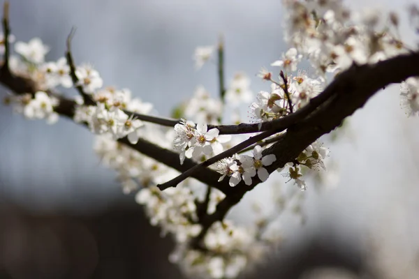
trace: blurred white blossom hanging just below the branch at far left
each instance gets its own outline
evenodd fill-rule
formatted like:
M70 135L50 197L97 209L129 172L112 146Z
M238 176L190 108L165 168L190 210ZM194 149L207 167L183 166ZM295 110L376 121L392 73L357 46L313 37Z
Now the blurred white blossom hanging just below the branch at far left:
M58 114L54 112L55 100L50 98L47 93L38 91L35 98L31 99L24 107L23 114L29 119L47 119L47 123L52 124L58 121Z

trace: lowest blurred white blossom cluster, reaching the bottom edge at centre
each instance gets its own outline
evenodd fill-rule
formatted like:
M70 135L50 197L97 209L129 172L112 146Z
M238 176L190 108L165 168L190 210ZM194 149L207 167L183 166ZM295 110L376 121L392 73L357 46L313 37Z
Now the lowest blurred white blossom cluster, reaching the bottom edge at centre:
M216 222L207 232L207 250L178 246L170 260L180 264L191 278L237 278L242 271L260 262L270 250L268 241L258 241L255 229Z

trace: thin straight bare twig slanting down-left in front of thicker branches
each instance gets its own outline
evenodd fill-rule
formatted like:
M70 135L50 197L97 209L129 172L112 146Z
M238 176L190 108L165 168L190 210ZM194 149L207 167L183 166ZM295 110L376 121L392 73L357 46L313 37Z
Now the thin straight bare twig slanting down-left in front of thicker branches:
M250 146L251 144L254 144L255 142L259 142L260 140L265 139L266 137L270 137L271 135L274 135L275 133L279 133L277 130L269 130L263 133L260 133L258 135L255 135L253 137L250 137L248 140L245 140L244 142L241 142L240 144L237 144L236 146L233 146L232 148L223 151L219 153L218 155L205 160L203 163L200 163L199 165L196 165L192 167L191 169L188 169L186 172L183 172L182 174L179 174L179 176L175 177L174 179L157 185L160 190L165 190L170 187L176 187L177 184L181 183L185 179L187 179L189 176L193 175L195 172L197 172L202 167L208 167L219 160L222 160L223 158L227 158L230 156L233 156L235 153L241 151L242 149L246 148L247 146Z

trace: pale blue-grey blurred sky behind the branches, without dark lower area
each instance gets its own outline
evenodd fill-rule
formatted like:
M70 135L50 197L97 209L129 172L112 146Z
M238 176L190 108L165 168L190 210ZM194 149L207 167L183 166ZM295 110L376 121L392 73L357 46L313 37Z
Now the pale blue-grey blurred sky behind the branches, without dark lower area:
M255 77L258 70L286 50L278 0L10 2L10 24L17 40L41 37L51 47L47 59L56 60L64 54L71 27L77 27L75 60L93 63L105 85L131 89L166 116L198 84L216 92L214 66L196 72L191 56L195 47L215 44L220 33L226 41L227 80L243 70L252 77L255 93L269 90L269 84ZM346 3L353 7L371 3L402 13L409 2ZM402 33L408 33L406 22ZM34 211L83 213L133 200L122 195L115 172L99 163L93 136L86 129L66 119L54 126L27 121L9 107L2 107L0 116L0 199ZM398 86L389 86L358 110L351 118L349 136L330 148L330 156L339 163L339 188L321 195L311 188L307 191L313 197L308 204L311 230L335 224L343 239L356 239L367 224L389 222L393 209L409 208L406 214L413 217L409 212L419 209L418 123L417 117L407 119L400 110ZM265 195L263 190L260 195ZM406 226L418 232L418 224ZM417 246L419 239L413 240Z

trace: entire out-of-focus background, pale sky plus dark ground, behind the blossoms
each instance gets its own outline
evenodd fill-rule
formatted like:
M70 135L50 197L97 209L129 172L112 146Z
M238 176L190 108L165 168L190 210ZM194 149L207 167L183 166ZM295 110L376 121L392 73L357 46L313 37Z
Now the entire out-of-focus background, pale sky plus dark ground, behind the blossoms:
M409 1L346 3L406 15ZM227 80L244 71L255 93L269 90L255 75L286 51L282 24L279 0L10 1L16 40L42 38L55 61L77 27L75 60L163 116L198 84L216 96L214 65L197 72L191 57L221 33ZM401 31L414 41L406 22ZM397 85L374 96L330 146L336 187L309 186L307 223L288 227L284 245L243 278L419 278L418 123L400 109ZM47 126L1 106L0 278L182 278L170 238L122 194L93 139L66 119Z

